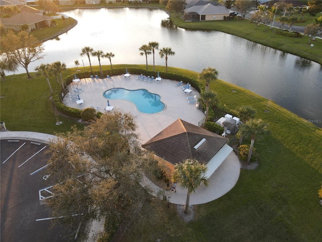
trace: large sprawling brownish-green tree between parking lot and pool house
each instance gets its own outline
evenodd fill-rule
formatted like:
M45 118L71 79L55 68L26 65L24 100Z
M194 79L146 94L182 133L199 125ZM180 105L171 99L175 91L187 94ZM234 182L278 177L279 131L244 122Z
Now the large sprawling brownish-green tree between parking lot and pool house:
M118 226L141 216L152 197L140 185L143 166L135 153L140 150L136 129L132 114L115 110L50 142L48 172L55 185L46 204L52 217L72 225L104 216Z

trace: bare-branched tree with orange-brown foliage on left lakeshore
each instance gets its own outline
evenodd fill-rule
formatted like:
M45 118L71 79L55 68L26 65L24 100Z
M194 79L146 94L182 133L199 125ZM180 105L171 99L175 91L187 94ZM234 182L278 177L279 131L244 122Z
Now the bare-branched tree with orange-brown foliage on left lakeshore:
M20 67L25 68L28 78L31 78L28 65L44 57L44 47L34 36L29 35L26 31L20 31L15 34L9 31L8 34L1 38L1 54L11 63L17 63Z

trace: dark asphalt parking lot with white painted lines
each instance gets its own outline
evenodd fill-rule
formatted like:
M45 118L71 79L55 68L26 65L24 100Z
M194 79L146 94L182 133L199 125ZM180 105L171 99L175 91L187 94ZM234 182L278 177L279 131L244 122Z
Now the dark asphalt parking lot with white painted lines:
M52 227L39 196L51 185L46 179L47 149L40 142L1 140L1 241L68 241L63 226Z

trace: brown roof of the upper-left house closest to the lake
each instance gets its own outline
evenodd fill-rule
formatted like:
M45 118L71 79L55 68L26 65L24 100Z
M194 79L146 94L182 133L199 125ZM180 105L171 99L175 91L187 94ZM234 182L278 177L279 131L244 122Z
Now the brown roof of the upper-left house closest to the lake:
M1 18L1 22L3 24L11 24L11 25L23 25L23 24L34 24L41 22L43 20L50 20L52 17L42 16L38 14L31 14L31 13L19 13L11 18Z

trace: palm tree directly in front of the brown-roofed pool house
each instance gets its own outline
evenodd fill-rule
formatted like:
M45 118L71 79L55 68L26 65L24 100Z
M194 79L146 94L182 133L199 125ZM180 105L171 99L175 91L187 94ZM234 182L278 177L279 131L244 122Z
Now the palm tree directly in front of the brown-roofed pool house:
M205 173L208 167L205 164L200 164L195 159L187 159L184 163L175 165L173 179L180 184L183 189L188 189L185 214L189 211L190 194L196 192L201 183L208 186L208 177Z

